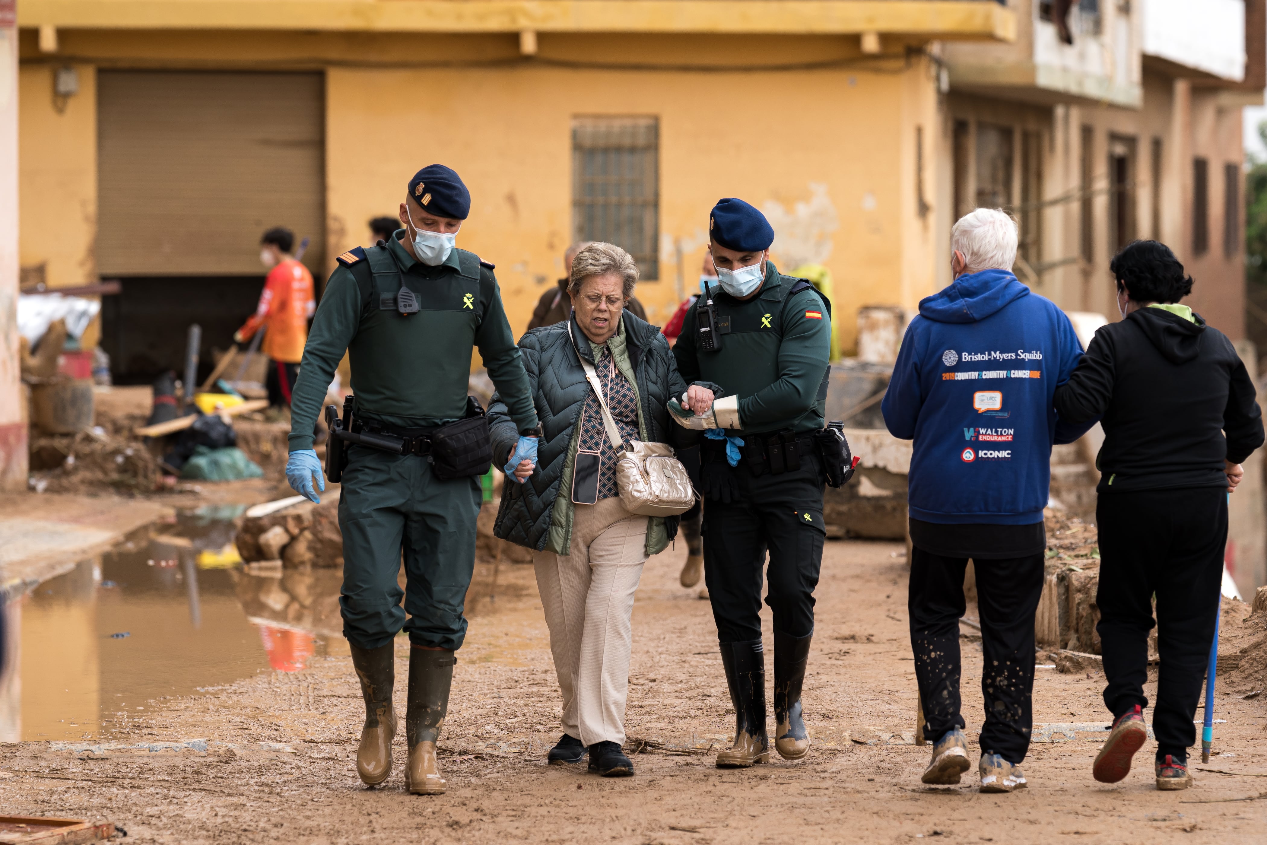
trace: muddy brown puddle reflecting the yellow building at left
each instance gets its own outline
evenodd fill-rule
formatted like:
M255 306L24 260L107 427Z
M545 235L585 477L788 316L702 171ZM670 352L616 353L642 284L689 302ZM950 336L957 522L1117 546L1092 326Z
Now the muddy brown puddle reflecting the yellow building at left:
M341 571L245 570L242 511L151 524L10 602L0 741L108 737L152 699L346 654Z

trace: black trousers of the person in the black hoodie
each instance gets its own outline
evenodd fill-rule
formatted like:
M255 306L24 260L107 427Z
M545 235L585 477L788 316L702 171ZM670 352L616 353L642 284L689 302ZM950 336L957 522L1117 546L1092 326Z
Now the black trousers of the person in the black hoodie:
M1157 595L1157 651L1162 659L1153 704L1157 755L1187 755L1201 698L1223 585L1228 493L1185 488L1104 493L1100 526L1100 647L1105 706L1114 718L1148 707L1148 633Z

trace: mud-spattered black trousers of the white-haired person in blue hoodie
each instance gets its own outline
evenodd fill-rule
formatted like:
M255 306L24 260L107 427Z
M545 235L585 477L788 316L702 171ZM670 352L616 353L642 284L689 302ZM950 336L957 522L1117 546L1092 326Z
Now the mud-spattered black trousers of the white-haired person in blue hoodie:
M1034 723L1034 612L1043 595L1043 554L1002 560L973 559L981 649L981 692L986 723L982 753L1017 764L1029 751ZM959 619L967 609L967 557L943 557L915 547L907 612L915 678L924 703L924 735L936 742L965 726L959 713Z

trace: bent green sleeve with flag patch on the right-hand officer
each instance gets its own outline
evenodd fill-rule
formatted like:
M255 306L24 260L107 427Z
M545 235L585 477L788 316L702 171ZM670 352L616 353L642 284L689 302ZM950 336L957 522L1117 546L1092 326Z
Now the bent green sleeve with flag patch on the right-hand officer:
M807 310L822 312L822 317L806 317ZM810 410L817 400L830 356L831 322L818 295L803 290L788 298L783 305L779 378L751 397L740 397L739 418L744 427L794 418Z

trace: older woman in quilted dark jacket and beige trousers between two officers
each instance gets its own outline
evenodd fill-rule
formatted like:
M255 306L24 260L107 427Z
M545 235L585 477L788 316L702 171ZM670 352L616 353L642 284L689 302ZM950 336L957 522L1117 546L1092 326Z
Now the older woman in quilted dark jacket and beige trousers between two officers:
M550 763L588 753L589 770L604 777L634 774L621 753L634 593L642 564L678 531L678 517L640 517L621 504L617 445L582 365L597 372L623 440L669 442L684 431L665 409L687 389L669 343L625 310L636 281L627 252L592 243L573 261L571 317L519 340L542 426L535 466L514 461L518 429L500 398L489 407L495 460L513 471L494 533L532 550L563 694L564 735Z

